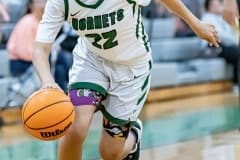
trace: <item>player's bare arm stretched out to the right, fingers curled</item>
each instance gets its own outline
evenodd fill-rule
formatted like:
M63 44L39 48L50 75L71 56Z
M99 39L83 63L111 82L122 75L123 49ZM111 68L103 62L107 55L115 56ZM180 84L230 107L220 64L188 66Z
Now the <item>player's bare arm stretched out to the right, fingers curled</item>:
M181 0L159 0L162 5L167 7L173 14L182 18L196 33L196 35L202 39L208 41L210 45L218 47L218 34L215 27L210 24L201 22L196 16L194 16L189 9L183 4Z

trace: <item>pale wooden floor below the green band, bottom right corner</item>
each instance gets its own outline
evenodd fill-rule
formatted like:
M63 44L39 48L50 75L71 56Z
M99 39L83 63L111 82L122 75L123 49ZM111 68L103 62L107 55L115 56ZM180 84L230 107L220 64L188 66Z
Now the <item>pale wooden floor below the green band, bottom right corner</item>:
M240 160L240 131L146 149L141 160Z

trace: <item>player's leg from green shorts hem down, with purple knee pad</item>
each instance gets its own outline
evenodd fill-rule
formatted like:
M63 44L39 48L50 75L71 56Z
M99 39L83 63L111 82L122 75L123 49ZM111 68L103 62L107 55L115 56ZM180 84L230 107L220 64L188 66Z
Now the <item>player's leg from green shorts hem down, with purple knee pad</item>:
M75 106L76 116L69 133L59 143L59 160L80 160L93 114L106 92L97 84L77 82L70 85L69 96Z

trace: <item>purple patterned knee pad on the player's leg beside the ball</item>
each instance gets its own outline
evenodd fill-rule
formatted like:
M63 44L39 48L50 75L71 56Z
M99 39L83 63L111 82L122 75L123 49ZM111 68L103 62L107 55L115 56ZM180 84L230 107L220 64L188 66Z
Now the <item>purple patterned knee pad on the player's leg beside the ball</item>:
M74 106L99 105L102 102L100 93L90 89L73 89L69 96Z

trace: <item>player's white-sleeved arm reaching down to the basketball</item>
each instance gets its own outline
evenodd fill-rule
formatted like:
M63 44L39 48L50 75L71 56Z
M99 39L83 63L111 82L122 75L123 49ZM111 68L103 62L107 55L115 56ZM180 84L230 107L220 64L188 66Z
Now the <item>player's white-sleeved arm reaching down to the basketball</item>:
M42 88L59 88L51 74L49 55L52 43L63 26L64 11L62 0L48 0L43 18L38 26L33 65L41 80Z

